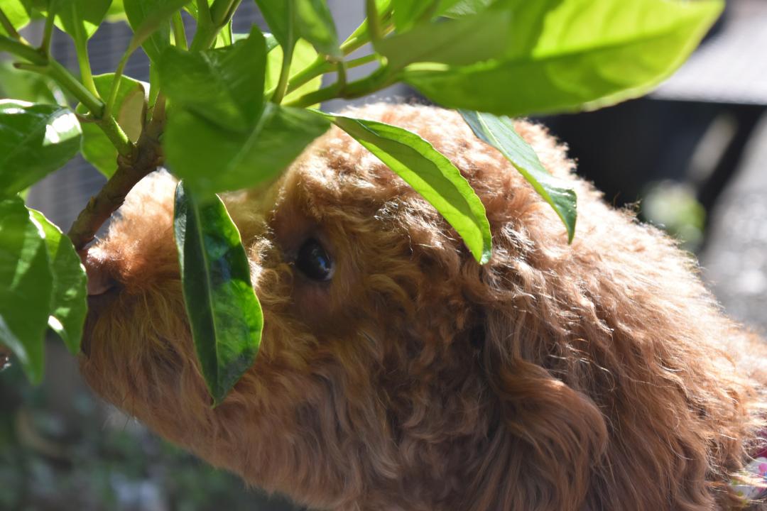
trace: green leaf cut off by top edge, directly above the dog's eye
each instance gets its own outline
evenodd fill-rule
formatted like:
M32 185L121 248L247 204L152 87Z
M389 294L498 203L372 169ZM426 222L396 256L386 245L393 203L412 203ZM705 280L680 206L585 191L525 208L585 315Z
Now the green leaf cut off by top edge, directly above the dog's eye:
M255 0L281 47L304 38L317 51L342 57L333 17L325 0Z

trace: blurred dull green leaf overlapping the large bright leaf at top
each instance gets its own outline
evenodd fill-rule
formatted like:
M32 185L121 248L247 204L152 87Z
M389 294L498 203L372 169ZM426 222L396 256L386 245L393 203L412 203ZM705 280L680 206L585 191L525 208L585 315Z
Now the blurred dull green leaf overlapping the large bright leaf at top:
M413 62L462 66L497 57L505 49L511 17L508 11L484 12L468 18L419 25L377 42L390 69Z

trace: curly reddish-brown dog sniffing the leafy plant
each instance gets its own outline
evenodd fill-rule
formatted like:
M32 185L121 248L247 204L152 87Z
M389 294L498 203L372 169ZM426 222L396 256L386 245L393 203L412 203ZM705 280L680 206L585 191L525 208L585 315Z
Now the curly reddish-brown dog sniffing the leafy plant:
M81 369L99 395L311 509L761 509L750 468L767 447L767 350L690 254L605 204L542 126L515 122L578 193L572 244L458 113L350 115L410 129L456 165L486 207L489 263L331 129L271 188L224 197L265 329L212 408L183 305L176 183L154 175L87 255Z

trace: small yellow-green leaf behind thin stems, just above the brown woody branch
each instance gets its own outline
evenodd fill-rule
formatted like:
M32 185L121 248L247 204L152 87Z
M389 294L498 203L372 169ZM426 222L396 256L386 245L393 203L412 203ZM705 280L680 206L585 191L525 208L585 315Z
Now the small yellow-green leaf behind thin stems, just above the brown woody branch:
M112 83L114 82L114 73L100 74L94 77L96 90L101 97L109 97ZM117 96L115 97L112 114L120 124L125 134L133 142L136 142L143 129L143 123L146 116L146 84L139 80L123 75L120 77L120 84L117 87ZM87 108L77 105L77 113L85 114ZM94 123L83 123L83 157L94 165L99 172L112 177L117 170L117 149L110 141L109 137Z

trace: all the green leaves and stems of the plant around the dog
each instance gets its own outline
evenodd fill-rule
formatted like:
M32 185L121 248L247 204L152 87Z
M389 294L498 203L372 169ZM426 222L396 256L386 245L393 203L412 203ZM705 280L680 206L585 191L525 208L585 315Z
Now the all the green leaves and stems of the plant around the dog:
M311 106L404 82L465 109L476 135L554 208L571 241L574 191L542 168L503 116L591 109L646 93L679 67L723 8L721 0L367 0L368 18L340 43L324 0L255 2L272 34L256 27L232 34L239 0L0 2L0 52L20 61L18 69L0 66L0 92L12 99L0 102L0 342L32 381L41 378L46 325L71 351L79 346L85 287L74 249L98 226L84 211L69 234L73 248L18 193L78 151L107 176L145 175L165 162L183 179L175 227L185 300L202 374L219 403L252 365L262 317L239 233L214 194L274 179L331 121L429 201L479 264L491 257L482 202L445 156L407 130ZM196 21L191 41L181 10ZM40 14L43 37L33 45L17 31ZM127 19L134 34L115 72L92 77L87 39L104 19ZM54 24L74 40L80 78L51 58ZM369 43L371 52L349 57ZM139 47L150 58L148 87L123 76ZM369 62L377 62L372 73L347 82L347 68ZM335 81L322 87L329 73ZM60 90L79 103L80 121Z

